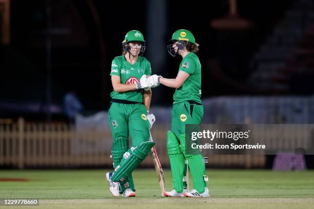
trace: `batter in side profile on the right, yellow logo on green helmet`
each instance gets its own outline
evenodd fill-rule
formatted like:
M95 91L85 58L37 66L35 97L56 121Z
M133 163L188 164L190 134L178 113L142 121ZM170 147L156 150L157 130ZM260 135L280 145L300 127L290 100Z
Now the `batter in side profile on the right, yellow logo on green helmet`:
M178 75L175 79L166 79L153 75L154 83L161 83L170 88L175 88L173 95L173 108L171 131L168 132L167 149L170 160L173 190L165 192L167 197L209 197L206 185L205 160L203 155L190 154L185 149L185 124L200 124L203 118L203 105L201 101L201 63L195 53L199 45L195 43L193 34L188 30L175 31L168 45L171 56L180 55L182 61ZM186 187L186 164L193 178L192 191Z

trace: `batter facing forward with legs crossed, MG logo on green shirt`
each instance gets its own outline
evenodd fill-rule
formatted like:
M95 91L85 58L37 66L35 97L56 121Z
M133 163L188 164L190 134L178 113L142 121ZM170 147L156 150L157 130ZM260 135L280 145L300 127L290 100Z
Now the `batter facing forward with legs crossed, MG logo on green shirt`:
M134 197L132 171L145 159L155 144L148 141L149 128L154 116L148 113L151 90L147 75L151 75L150 62L141 55L145 40L140 31L132 30L125 35L123 55L112 60L111 82L113 91L109 108L112 159L114 172L106 174L113 196L123 194ZM156 85L158 86L158 85ZM152 120L153 118L153 120ZM129 149L128 136L132 140Z

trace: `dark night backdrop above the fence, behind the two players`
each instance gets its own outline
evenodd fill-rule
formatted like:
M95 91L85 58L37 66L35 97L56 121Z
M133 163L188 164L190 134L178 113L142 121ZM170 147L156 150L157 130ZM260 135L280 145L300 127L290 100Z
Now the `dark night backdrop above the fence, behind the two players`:
M237 2L238 17L250 27L213 26L213 21L226 17L231 2ZM0 42L0 128L15 126L17 118L26 123L74 122L63 110L70 90L82 101L84 116L108 110L111 60L121 55L130 30L144 34L144 56L152 72L174 78L181 57L172 58L166 46L178 29L190 30L200 44L202 99L211 102L204 105L203 122L314 123L311 0L11 0L10 4L10 41ZM0 20L2 13L0 8ZM0 41L6 30L1 29ZM173 92L162 85L153 89L151 107L163 107L169 116L157 113L161 123L165 118L170 121ZM312 156L307 161L313 168Z

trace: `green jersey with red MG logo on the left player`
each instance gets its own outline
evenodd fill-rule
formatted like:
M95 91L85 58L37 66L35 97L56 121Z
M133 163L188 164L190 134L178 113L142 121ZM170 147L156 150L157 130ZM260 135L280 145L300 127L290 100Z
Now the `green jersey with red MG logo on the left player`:
M138 60L133 65L129 64L124 55L114 57L112 60L110 75L120 76L121 83L130 84L140 82L144 74L151 75L150 62L145 57L138 57ZM113 99L143 102L143 89L123 93L113 90L110 96Z

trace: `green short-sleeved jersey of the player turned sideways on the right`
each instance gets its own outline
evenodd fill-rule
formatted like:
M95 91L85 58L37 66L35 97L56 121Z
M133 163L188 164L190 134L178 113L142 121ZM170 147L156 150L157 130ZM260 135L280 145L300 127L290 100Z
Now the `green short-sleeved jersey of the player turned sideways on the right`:
M193 52L188 53L180 64L179 72L184 71L190 76L183 82L179 89L176 89L173 95L173 104L187 100L201 101L201 62L199 57ZM178 73L179 73L178 72Z

